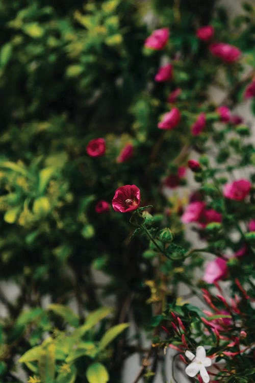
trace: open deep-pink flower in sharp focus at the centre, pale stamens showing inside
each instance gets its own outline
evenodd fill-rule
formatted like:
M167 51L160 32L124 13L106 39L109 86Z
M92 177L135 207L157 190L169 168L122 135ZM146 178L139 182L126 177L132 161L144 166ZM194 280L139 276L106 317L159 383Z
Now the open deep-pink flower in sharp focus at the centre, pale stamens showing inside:
M136 185L124 185L115 190L112 206L115 211L126 213L136 210L141 203L140 189Z

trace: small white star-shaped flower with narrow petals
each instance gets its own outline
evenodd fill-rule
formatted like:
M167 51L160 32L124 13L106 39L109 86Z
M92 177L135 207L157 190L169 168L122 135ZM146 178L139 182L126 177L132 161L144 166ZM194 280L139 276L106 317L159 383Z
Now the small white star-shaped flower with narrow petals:
M185 369L186 374L193 378L199 372L203 382L208 383L210 377L206 367L211 366L212 361L207 357L205 348L203 346L198 346L196 348L196 355L188 350L185 351L185 355L192 361L192 363Z

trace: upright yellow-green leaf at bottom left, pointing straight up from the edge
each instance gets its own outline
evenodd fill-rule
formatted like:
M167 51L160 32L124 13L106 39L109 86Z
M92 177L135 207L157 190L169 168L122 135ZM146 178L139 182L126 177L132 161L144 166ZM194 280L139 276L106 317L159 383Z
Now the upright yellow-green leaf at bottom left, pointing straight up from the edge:
M42 349L38 367L41 380L47 383L54 383L55 376L56 347L49 343L46 349Z

